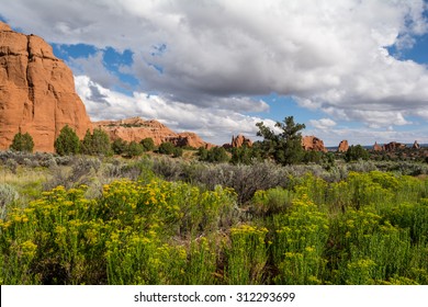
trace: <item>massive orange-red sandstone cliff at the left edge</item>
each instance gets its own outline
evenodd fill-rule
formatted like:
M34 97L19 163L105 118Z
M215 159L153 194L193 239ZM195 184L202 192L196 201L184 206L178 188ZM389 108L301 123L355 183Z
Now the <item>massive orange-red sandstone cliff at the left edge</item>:
M80 138L92 127L71 70L43 38L0 22L0 149L21 129L35 151L52 152L65 125Z

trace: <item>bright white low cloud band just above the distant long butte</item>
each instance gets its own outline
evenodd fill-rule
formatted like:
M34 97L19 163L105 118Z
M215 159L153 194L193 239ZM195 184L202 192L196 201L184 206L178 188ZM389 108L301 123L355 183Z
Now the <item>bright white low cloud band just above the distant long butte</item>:
M229 143L233 135L245 134L256 138L256 123L274 125L273 121L246 116L229 110L200 107L144 92L134 92L132 96L105 89L88 76L77 76L76 90L83 100L92 121L123 120L140 116L156 118L177 132L198 133L204 140L223 145Z

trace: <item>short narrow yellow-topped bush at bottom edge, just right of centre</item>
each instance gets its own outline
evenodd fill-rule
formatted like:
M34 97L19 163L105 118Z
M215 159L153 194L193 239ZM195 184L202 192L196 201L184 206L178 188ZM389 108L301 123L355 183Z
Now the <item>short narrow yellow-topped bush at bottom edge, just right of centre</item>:
M226 282L232 285L262 284L268 260L266 235L268 229L240 225L230 228L227 251Z

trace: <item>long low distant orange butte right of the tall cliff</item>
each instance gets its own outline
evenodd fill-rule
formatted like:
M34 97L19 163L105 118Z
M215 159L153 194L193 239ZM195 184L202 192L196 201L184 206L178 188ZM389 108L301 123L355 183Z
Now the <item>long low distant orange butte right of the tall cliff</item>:
M214 145L205 143L194 133L174 133L166 125L155 121L144 121L140 117L132 117L121 121L101 121L92 123L94 128L106 132L111 139L122 138L126 141L140 141L144 138L153 138L155 145L170 141L176 146L191 146L194 148L212 148Z

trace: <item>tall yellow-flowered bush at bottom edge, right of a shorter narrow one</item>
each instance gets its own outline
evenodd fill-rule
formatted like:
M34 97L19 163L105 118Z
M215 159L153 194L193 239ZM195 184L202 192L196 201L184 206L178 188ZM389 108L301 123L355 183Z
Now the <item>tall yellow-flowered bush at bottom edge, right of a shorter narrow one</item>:
M273 216L275 283L320 284L326 261L323 253L329 236L328 217L306 195L295 198L290 213Z

